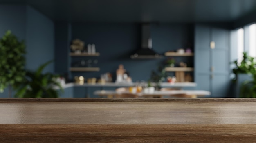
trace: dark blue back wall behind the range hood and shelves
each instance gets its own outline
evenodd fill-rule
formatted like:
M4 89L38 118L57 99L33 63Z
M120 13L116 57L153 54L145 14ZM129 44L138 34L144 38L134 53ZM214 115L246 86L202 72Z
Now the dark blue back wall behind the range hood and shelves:
M151 35L153 50L164 54L168 50L186 48L188 42L193 42L193 27L189 24L159 24L152 25ZM115 78L115 71L119 64L130 73L132 80L148 80L152 70L161 65L163 59L132 60L130 55L140 48L140 24L72 24L72 39L81 39L96 45L99 57L69 57L72 63L81 59L97 59L96 67L99 72L72 72L74 76L85 78L96 77L100 74L111 72ZM192 43L193 44L193 43Z

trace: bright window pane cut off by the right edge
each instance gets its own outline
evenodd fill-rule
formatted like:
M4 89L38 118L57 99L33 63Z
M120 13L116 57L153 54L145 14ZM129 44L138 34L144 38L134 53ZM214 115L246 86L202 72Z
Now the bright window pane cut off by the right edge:
M256 24L249 26L249 56L256 57Z

